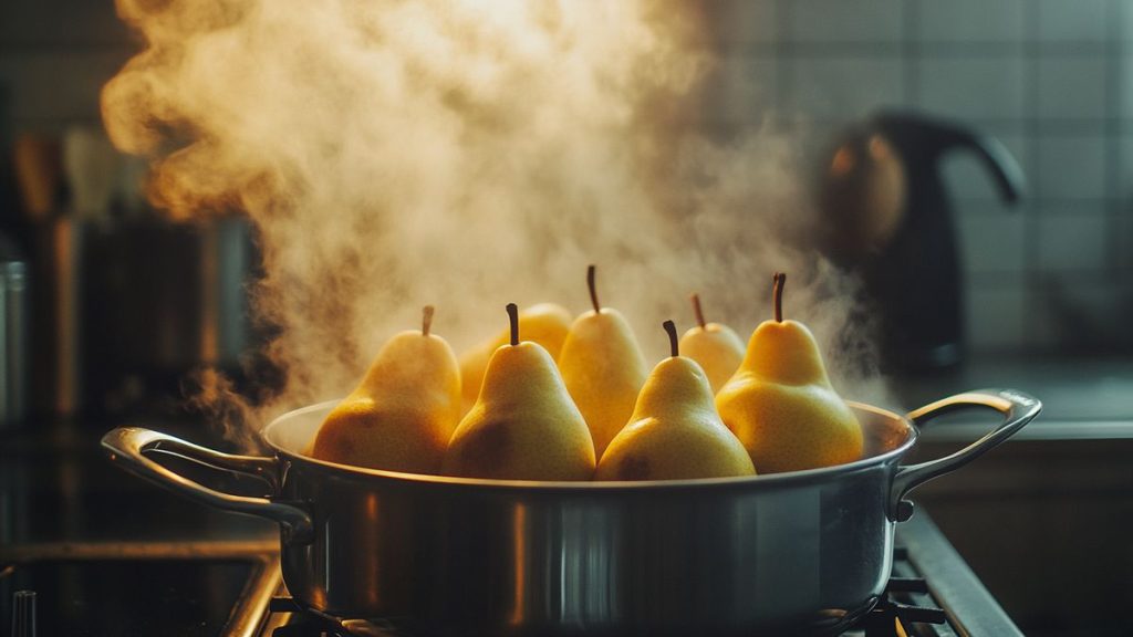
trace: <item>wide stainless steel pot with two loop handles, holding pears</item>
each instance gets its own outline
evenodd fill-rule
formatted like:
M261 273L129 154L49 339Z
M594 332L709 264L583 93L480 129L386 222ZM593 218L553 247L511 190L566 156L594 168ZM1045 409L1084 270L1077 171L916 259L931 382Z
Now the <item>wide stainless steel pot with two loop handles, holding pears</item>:
M767 476L641 483L463 479L360 469L301 450L333 402L264 428L275 457L229 456L140 428L103 447L189 498L280 523L291 595L334 615L424 635L837 632L877 602L905 494L1003 442L1038 400L954 396L908 417L851 404L862 460ZM937 460L901 466L915 425L962 407L1004 421ZM259 476L266 498L213 491L161 451Z

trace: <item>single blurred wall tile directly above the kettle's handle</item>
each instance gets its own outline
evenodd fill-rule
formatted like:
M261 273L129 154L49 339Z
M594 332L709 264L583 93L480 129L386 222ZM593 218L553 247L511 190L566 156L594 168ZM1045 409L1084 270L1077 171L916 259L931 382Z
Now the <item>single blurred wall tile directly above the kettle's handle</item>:
M1021 56L940 57L920 61L917 105L964 119L1017 119L1023 112Z

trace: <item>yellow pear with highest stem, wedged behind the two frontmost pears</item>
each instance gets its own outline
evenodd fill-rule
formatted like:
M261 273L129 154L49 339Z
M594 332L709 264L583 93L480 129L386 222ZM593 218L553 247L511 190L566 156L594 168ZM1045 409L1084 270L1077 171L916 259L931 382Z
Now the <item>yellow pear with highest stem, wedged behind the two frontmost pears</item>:
M559 355L559 371L590 427L600 458L633 413L648 371L629 323L616 309L598 304L594 274L591 265L587 284L594 309L570 326Z

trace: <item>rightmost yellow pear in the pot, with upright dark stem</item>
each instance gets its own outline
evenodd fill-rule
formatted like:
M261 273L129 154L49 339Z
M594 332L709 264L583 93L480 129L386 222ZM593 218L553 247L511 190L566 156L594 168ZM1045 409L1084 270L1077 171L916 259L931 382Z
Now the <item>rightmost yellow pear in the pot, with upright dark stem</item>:
M861 425L830 387L806 325L783 321L785 274L775 274L775 320L751 334L732 380L716 394L724 424L761 474L841 465L861 458Z

